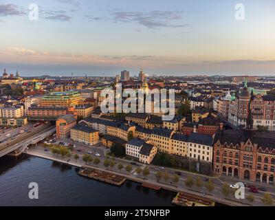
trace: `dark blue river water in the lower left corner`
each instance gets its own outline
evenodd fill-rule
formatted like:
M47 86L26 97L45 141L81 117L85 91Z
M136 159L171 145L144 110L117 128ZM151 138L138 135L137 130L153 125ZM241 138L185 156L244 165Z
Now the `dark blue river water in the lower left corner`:
M78 168L39 157L0 158L0 206L172 206L175 192L150 190L126 181L111 186L80 177ZM29 184L39 199L29 199Z

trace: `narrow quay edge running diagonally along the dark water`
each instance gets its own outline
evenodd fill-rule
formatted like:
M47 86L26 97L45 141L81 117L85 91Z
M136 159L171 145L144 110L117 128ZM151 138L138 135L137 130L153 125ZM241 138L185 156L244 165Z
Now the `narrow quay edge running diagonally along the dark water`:
M181 190L181 189L175 188L175 186L170 186L170 184L168 185L168 184L165 184L165 183L148 181L147 179L144 179L143 177L131 177L131 176L126 175L124 173L118 173L114 170L99 168L98 166L92 166L92 165L84 165L83 166L83 165L78 164L76 162L72 162L72 161L66 162L63 159L59 159L59 158L56 158L56 157L50 157L50 156L47 156L47 155L44 155L44 154L41 154L41 153L26 152L24 154L31 155L31 156L34 156L34 157L40 157L40 158L43 158L43 159L52 160L54 162L60 162L62 164L67 164L67 165L70 165L70 166L74 166L76 168L84 168L84 166L85 167L96 168L98 170L108 171L110 173L114 173L115 175L121 175L121 176L125 177L127 180L133 181L133 182L138 183L138 184L144 184L144 183L145 184L155 184L155 185L159 186L160 188L162 188L164 190L168 190L170 192L176 192L176 193L177 192L186 192L186 193L189 193L189 194L192 193L192 195L196 195L196 196L201 197L201 193L196 192L195 190ZM221 203L224 206L244 206L244 205L249 206L249 204L237 203L235 201L231 201L231 200L227 200L227 199L216 199L216 198L212 198L212 197L210 197L210 199L213 199L215 202Z

